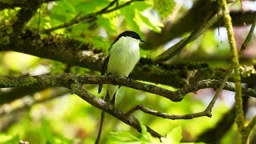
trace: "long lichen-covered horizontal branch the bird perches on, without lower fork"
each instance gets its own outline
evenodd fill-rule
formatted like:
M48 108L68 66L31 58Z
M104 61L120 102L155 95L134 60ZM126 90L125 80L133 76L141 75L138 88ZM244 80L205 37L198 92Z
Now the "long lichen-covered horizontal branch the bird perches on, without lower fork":
M170 99L173 102L179 102L184 96L190 92L205 88L218 89L222 84L221 80L203 80L183 86L180 90L170 91L159 86L154 86L142 82L136 82L129 78L122 78L117 75L97 75L86 76L77 74L56 74L56 75L38 75L38 76L24 76L24 77L10 77L0 76L0 87L49 87L49 86L63 86L68 87L70 82L79 82L82 84L113 84L119 86L126 86L136 90L146 91L152 94L158 94L164 98ZM234 91L234 83L226 82L224 90ZM242 87L243 94L256 98L256 90Z

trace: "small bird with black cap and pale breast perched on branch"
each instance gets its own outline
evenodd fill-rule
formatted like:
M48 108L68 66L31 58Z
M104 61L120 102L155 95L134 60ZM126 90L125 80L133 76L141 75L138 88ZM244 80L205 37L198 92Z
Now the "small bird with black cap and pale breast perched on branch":
M118 35L118 37L111 44L106 59L102 66L101 75L105 74L117 74L121 77L128 78L130 72L134 69L134 66L140 59L139 43L145 42L142 38L134 31L124 31ZM105 102L110 105L115 105L115 99L119 86L107 85ZM98 94L102 91L102 84L98 86ZM102 125L104 121L105 113L102 111L102 118L100 127L98 130L98 137L95 141L99 142Z

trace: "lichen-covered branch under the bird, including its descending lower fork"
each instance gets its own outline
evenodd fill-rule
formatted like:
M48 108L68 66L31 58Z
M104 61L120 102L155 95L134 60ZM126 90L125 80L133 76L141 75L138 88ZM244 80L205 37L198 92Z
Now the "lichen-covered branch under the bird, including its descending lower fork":
M114 84L120 86L129 86L138 90L145 90L154 94L161 94L165 98L173 99L174 101L179 101L187 93L200 90L202 88L218 88L222 81L218 80L206 80L201 82L196 82L194 85L184 86L178 91L164 90L158 86L153 86L149 84L144 84L142 82L134 82L133 80L127 78L117 77L115 75L109 76L81 76L76 74L57 74L57 75L40 75L40 76L27 76L27 77L9 77L0 76L0 87L34 87L34 86L63 86L71 90L71 93L78 94L79 97L89 102L91 105L97 107L100 110L104 110L107 113L113 115L114 117L120 119L122 122L133 126L136 130L140 131L140 126L138 120L134 117L127 117L127 114L122 110L118 110L116 107L104 102L102 99L95 97L90 94L87 90L82 88L83 84L96 84L96 83L106 83ZM226 82L224 86L226 90L234 90L234 83ZM169 96L165 96L166 92ZM243 88L243 94L256 97L256 90L250 88ZM198 116L198 114L195 114ZM209 115L208 115L209 116ZM188 116L186 116L188 117ZM150 133L156 137L161 137L161 135L155 133L153 130L148 128Z

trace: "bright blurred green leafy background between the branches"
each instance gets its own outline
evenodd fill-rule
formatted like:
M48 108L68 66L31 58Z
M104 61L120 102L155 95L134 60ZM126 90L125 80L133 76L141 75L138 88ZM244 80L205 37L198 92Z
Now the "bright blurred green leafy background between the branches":
M110 0L62 0L42 4L37 13L26 23L26 29L39 31L52 28L69 22L74 17L90 14L107 6ZM118 1L118 5L128 2ZM54 30L51 34L62 34L69 38L75 38L82 42L89 42L98 50L107 53L114 38L125 30L134 30L143 38L146 38L148 31L161 32L166 21L178 21L183 14L190 10L194 1L174 0L148 0L143 2L132 2L130 6L115 10L109 14L99 15L89 22L80 22L74 26ZM240 10L241 4L235 3L234 10ZM244 5L245 7L248 5ZM114 6L112 6L114 7ZM256 6L255 6L256 7ZM0 11L0 21L9 22L20 8L5 9ZM39 20L40 17L40 20ZM250 27L235 27L234 33L238 36L236 40L238 47L241 46L243 38ZM254 33L255 34L255 33ZM46 37L47 34L41 34ZM174 45L178 40L188 34L182 34L174 38L164 46L154 50L141 50L143 58L154 58L158 54ZM254 37L255 39L255 37ZM242 64L254 61L255 42L242 57ZM229 45L226 38L226 30L222 27L207 30L194 42L190 42L182 53L174 57L170 63L194 62L208 63L213 67L226 69L230 65ZM28 54L13 51L2 51L0 53L0 74L10 76L38 75L38 74L61 74L70 72L74 74L100 74L98 71L89 70L79 66L68 66L62 62L50 59L38 58ZM171 86L163 86L168 90L178 90ZM86 90L102 98L106 93L98 94L98 85L85 85ZM16 143L20 140L30 143L94 143L98 134L98 125L101 111L91 106L75 94L70 94L64 88L43 88L33 92L30 89L21 90L24 97L12 102L6 102L5 95L9 94L12 88L0 90L0 143ZM22 92L20 92L22 94ZM166 98L155 94L149 94L139 90L122 87L118 91L117 107L121 110L130 110L133 106L144 104L145 106L166 112L168 114L191 114L205 110L214 95L214 90L198 90L190 93L182 102L170 102ZM14 94L13 94L14 95ZM251 100L254 114L254 100ZM182 142L194 142L200 134L214 128L223 114L231 109L234 104L234 93L223 91L214 106L212 118L194 118L191 120L169 120L157 118L150 114L136 111L133 115L141 122L156 130L159 134L166 135L174 128L181 126ZM247 116L250 119L250 115ZM142 135L136 130L127 126L118 119L107 114L102 133L102 143L120 143L114 140L113 131L128 131L137 138ZM112 136L112 137L111 137ZM173 138L176 136L173 136ZM178 137L178 136L177 136ZM117 138L119 138L117 136ZM233 125L230 130L221 138L221 143L238 143L237 127ZM126 141L126 138L123 138ZM139 141L138 141L139 143Z

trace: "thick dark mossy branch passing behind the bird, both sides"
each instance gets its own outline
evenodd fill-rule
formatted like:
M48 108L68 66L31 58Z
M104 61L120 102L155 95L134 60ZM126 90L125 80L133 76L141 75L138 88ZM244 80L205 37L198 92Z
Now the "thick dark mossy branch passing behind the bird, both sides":
M40 38L30 31L22 34L21 38L10 38L10 44L0 43L0 50L14 50L64 62L69 66L82 66L98 71L102 70L105 59L105 55L90 43L83 43L62 35ZM222 79L225 74L226 70L210 68L206 64L154 64L150 59L142 58L129 78L180 88L187 83L203 79ZM242 78L242 82L254 83L255 76L250 74L250 77ZM230 78L229 81L234 82L234 79Z

